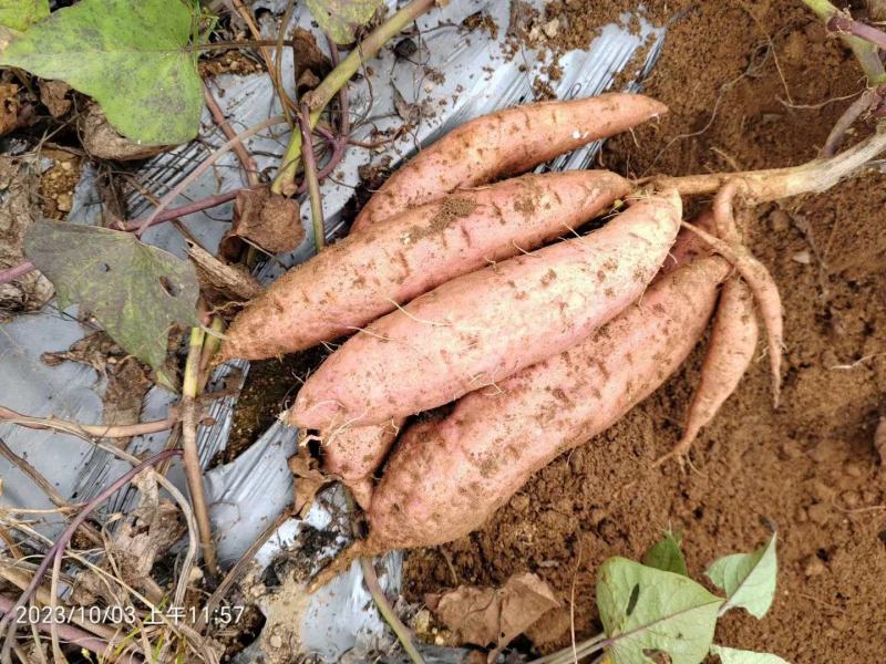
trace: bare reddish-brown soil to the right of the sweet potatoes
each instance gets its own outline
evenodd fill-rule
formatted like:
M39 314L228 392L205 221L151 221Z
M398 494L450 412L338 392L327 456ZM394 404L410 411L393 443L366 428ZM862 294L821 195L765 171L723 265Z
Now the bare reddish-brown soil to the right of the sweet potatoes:
M557 39L587 43L604 18L554 2ZM632 2L631 2L632 4ZM651 15L664 2L651 2ZM579 20L575 7L586 13ZM660 7L659 7L660 6ZM815 156L861 90L852 56L799 1L669 1L672 25L646 92L670 114L610 142L610 168L681 175L797 164ZM608 14L608 15L604 15ZM597 20L597 23L594 23ZM697 442L697 471L651 461L676 442L702 349L683 372L605 435L538 473L481 531L412 552L410 599L533 571L568 601L576 635L596 633L594 579L609 556L637 558L669 525L690 572L780 533L779 592L760 623L730 614L719 642L792 662L882 660L886 612L886 469L873 446L886 408L886 176L755 210L750 245L781 287L786 313L783 406L765 360ZM693 201L694 209L703 201ZM567 637L548 646L563 646Z

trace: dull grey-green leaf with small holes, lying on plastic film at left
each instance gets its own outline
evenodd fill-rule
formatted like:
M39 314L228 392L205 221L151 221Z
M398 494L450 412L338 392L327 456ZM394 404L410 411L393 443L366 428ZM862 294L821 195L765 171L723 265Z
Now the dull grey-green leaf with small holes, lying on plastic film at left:
M166 359L171 325L199 324L193 266L132 234L38 221L24 238L24 252L55 286L62 308L78 302L151 366Z

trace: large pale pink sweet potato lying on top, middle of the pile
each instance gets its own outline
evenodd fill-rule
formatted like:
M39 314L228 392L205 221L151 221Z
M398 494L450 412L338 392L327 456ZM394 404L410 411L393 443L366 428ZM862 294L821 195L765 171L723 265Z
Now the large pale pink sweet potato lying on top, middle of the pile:
M378 424L494 385L633 302L677 236L680 197L650 195L604 228L453 279L349 339L301 387L290 423Z

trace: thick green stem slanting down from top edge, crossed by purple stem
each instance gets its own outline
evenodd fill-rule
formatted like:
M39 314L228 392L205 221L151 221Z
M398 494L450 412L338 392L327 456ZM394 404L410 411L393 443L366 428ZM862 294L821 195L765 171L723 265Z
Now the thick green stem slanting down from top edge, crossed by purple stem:
M433 6L434 0L413 0L406 4L373 30L372 33L360 42L336 69L329 72L329 75L323 79L320 85L306 94L305 101L311 111L310 127L313 128L317 126L323 108L326 108L327 104L336 96L336 93L350 81L351 76L358 72L363 62L374 58L388 40L401 32L406 25L429 11ZM274 179L274 184L270 187L270 190L275 194L282 193L285 185L295 179L302 152L301 145L301 133L293 131L286 153L280 159L282 164L280 170L277 173L277 177Z

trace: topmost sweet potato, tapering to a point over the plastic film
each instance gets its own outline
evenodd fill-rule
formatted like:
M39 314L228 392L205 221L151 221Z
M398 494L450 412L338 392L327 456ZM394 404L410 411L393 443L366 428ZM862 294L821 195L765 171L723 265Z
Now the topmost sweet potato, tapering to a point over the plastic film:
M466 122L394 173L351 227L362 231L461 187L524 173L559 154L667 113L639 94L516 106Z

